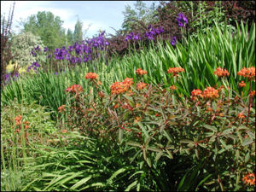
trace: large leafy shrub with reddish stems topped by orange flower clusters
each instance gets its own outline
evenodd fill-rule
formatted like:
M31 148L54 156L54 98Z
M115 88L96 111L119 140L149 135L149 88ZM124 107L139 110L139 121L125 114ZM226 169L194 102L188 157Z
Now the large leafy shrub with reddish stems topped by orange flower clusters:
M139 76L145 73L137 69ZM181 67L172 67L168 73L170 79L177 80L178 73L186 72ZM221 68L214 74L219 79L230 75ZM144 160L143 166L154 172L154 182L148 183L150 189L172 189L174 183L170 183L170 178L156 179L172 173L160 172L157 165L164 162L161 157L172 162L179 155L195 162L195 166L191 166L194 173L189 178L193 182L189 186L181 181L175 185L178 189L246 189L247 183L241 178L253 172L255 166L255 90L251 90L255 68L244 68L237 74L250 84L249 95L233 92L226 82L218 89L193 90L190 98L183 98L177 96L176 81L164 89L160 84L135 84L129 78L113 83L108 96L101 90L97 74L87 73L85 79L93 84L96 93L91 90L84 95L79 84L67 87L70 104L59 108L67 116L62 126L79 129L85 137L101 138L102 143L123 143L125 152L130 151L127 158L131 162ZM193 178L195 174L197 179ZM132 187L141 182L134 181Z

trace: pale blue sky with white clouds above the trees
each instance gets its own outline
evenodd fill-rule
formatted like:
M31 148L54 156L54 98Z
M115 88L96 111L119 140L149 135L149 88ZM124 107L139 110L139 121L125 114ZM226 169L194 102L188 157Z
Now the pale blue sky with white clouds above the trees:
M149 7L156 1L143 1ZM9 15L10 6L14 1L1 1L1 14ZM30 15L37 15L38 11L50 11L63 20L62 26L74 31L79 18L83 22L83 32L89 27L86 38L92 38L99 30L115 34L111 26L119 30L124 21L125 5L134 8L136 1L15 1L13 30L20 32L20 21Z

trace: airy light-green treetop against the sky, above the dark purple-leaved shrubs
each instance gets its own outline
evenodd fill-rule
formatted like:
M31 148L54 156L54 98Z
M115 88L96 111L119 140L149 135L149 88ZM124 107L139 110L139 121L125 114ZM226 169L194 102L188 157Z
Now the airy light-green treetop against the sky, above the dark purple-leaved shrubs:
M122 29L131 32L132 26L137 23L137 20L142 21L144 24L148 25L157 21L157 10L155 3L148 8L146 3L142 1L137 1L134 4L135 9L131 9L130 5L125 6L125 11L123 12L125 19L122 24Z

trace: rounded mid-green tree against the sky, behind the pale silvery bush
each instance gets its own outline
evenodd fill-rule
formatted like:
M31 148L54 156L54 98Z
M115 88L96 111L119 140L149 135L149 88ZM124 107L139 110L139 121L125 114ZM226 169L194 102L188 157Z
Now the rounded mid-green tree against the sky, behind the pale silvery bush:
M27 21L23 22L23 32L32 32L39 36L49 49L62 47L66 43L65 29L62 27L63 21L59 16L51 12L40 12L31 15Z

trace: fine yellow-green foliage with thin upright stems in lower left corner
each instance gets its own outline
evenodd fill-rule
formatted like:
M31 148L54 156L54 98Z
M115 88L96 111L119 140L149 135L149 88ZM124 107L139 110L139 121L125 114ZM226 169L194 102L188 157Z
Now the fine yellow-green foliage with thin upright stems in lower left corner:
M19 115L20 125L15 119ZM15 100L5 108L1 106L1 190L21 190L29 176L24 166L33 161L38 144L49 144L54 131L49 113L35 103L19 104Z

